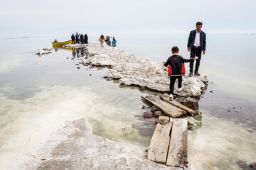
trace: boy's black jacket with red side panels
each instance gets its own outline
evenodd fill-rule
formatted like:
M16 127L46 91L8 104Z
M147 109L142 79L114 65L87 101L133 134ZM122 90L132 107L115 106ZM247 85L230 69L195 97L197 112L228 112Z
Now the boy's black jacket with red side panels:
M184 59L179 55L172 55L168 58L164 66L167 67L169 65L169 76L181 76L185 74L185 65L184 62L192 62L193 58L191 59Z

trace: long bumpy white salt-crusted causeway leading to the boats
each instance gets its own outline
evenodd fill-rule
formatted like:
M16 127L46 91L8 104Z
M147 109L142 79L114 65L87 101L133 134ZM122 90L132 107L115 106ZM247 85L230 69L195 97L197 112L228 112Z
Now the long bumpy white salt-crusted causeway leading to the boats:
M100 47L98 43L88 45L65 45L65 47L87 47L89 56L82 58L84 64L95 66L112 66L107 77L119 79L119 82L126 85L146 86L156 91L169 91L169 77L166 67L162 63L151 61L147 58L134 57L116 47L105 45ZM183 90L181 92L174 88L174 93L179 96L200 96L201 89L205 82L208 82L208 75L201 74L200 77L183 77Z

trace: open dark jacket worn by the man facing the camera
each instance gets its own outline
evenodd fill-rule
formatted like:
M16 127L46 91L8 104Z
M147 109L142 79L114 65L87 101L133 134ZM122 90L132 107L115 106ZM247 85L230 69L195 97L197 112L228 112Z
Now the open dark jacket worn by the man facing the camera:
M191 33L189 34L189 37L188 37L188 47L190 47L190 49L193 48L193 43L195 42L195 38L196 38L196 30L191 30ZM201 33L200 33L200 47L201 47L201 50L203 51L206 50L206 33L203 32L203 30L201 30Z

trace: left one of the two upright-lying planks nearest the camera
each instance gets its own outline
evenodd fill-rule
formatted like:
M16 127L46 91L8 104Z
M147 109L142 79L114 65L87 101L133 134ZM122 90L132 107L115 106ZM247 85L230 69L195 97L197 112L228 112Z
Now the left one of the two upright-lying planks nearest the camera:
M172 123L166 125L157 124L148 150L148 159L160 164L166 164L166 158L170 142Z

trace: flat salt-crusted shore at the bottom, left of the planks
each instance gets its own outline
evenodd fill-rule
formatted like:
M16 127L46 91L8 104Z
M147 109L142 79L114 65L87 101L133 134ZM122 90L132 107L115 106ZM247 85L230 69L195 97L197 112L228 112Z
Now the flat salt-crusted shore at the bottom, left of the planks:
M144 158L146 148L93 135L84 119L65 120L48 127L30 157L18 169L172 169ZM46 130L48 131L48 130Z

